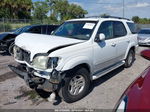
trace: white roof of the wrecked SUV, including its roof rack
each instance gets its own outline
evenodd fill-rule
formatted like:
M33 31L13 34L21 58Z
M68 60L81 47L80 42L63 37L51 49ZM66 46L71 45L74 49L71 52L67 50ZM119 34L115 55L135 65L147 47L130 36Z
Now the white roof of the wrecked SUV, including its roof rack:
M68 21L99 21L99 20L120 20L120 21L128 21L128 22L133 22L130 19L127 18L122 18L122 17L114 17L114 16L91 16L91 17L86 17L86 18L79 18L79 19L71 19Z

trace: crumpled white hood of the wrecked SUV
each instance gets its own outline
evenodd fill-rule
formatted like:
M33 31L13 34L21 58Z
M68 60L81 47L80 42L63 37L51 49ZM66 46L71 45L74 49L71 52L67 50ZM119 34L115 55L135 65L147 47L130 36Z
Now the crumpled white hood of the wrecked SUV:
M85 40L70 39L53 35L23 33L16 37L15 44L31 52L31 57L37 53L47 53L57 47L84 42Z

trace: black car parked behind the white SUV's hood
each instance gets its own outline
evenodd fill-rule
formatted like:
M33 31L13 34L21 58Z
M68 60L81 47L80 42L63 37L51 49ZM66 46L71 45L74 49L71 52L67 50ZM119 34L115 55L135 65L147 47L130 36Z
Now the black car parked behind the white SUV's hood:
M21 33L36 33L50 35L59 25L31 25L18 28L12 32L5 32L0 34L0 51L7 51L13 54L13 46L15 37Z

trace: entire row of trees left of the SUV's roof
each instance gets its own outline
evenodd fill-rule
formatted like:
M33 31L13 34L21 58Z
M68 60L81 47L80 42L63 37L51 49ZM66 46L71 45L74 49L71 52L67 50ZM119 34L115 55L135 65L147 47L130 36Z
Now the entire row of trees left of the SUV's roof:
M32 10L32 11L31 11ZM32 15L31 15L32 12ZM82 18L88 12L68 0L0 0L0 18L36 19L36 23L61 23L72 18Z

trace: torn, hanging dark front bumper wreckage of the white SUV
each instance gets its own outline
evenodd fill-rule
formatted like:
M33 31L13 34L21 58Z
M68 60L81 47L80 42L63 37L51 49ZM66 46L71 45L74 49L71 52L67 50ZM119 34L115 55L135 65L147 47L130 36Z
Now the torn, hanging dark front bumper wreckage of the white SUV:
M42 89L46 92L54 92L58 89L62 80L61 72L53 70L49 73L50 78L42 78L37 74L45 75L44 71L37 71L26 65L18 65L17 67L9 65L9 68L19 77L25 80L26 84L32 89ZM35 75L36 74L36 75Z

